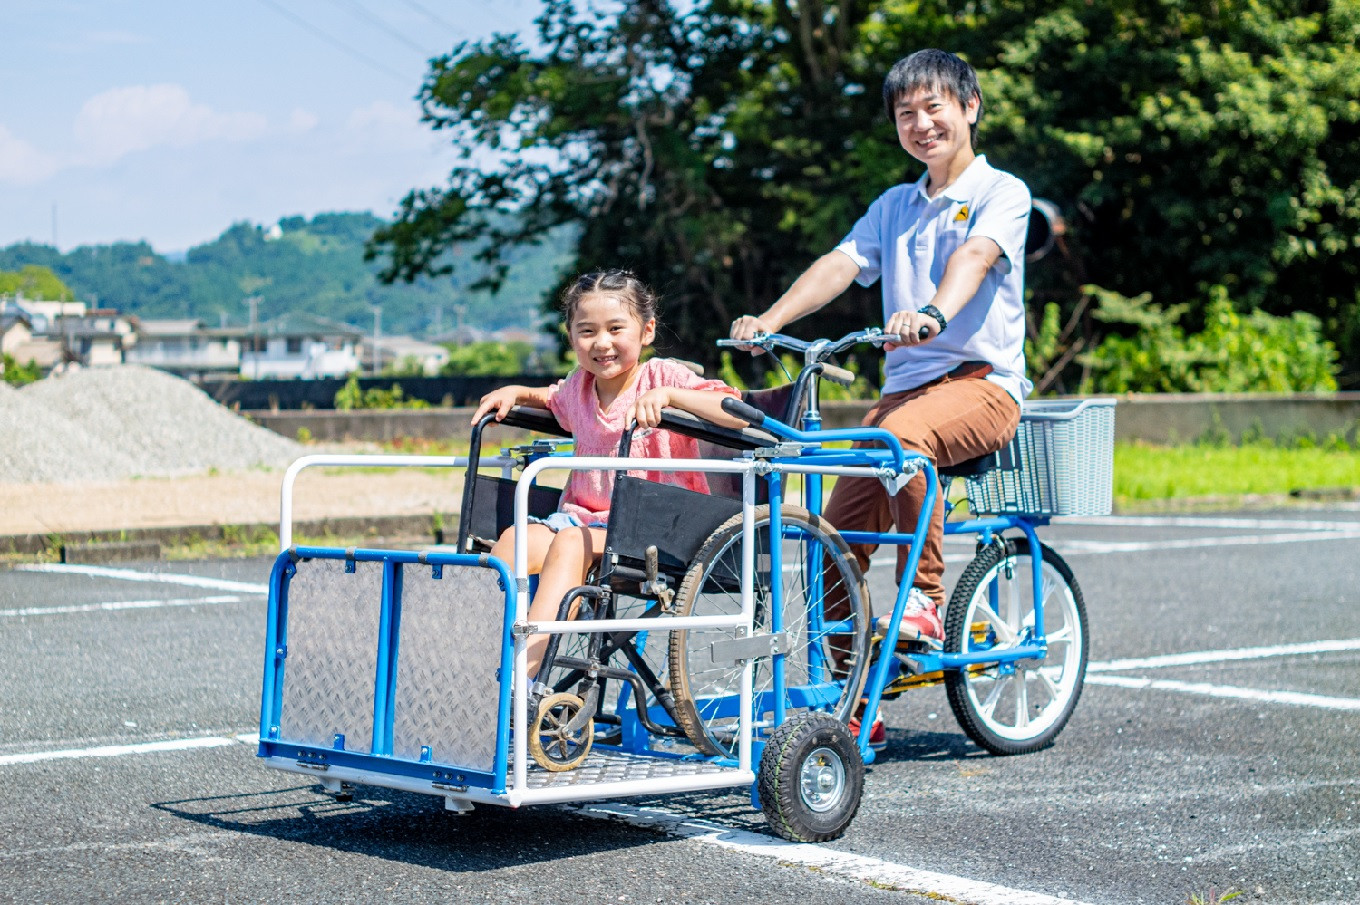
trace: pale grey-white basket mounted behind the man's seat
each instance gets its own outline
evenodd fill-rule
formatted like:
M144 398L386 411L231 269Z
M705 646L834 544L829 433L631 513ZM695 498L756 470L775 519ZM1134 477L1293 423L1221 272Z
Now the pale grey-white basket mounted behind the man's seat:
M1027 401L997 467L967 480L975 514L1107 516L1114 495L1112 399Z

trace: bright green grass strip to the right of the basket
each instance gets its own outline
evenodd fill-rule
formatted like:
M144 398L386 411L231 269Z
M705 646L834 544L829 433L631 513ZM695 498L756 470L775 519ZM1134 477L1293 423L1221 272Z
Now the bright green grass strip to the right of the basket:
M1114 450L1117 509L1161 499L1284 497L1356 489L1360 489L1360 452L1349 448L1117 444Z

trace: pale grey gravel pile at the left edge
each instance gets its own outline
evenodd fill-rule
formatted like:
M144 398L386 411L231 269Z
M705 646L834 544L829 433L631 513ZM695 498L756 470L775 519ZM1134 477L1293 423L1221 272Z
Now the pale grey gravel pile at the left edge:
M139 365L0 384L0 482L79 483L283 467L302 446Z

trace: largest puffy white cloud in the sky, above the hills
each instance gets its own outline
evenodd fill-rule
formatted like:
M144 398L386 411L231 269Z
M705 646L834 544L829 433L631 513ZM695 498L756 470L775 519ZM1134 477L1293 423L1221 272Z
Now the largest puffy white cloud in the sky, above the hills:
M84 146L80 162L98 166L158 146L245 142L260 137L267 125L258 113L218 113L193 103L178 84L136 84L86 101L75 135Z

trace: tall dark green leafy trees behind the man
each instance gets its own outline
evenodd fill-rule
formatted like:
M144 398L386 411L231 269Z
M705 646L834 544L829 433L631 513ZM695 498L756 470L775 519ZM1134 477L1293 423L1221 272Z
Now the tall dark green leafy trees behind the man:
M919 173L877 93L904 52L944 46L981 72L982 150L1068 215L1059 253L1030 274L1043 386L1089 377L1106 323L1088 283L1183 299L1190 331L1223 317L1214 286L1242 312L1311 314L1360 380L1356 0L615 8L544 0L537 49L496 35L432 61L426 120L464 158L375 233L385 279L442 272L450 248L487 237L494 283L517 242L578 225L578 267L636 269L683 354L715 365L733 316ZM798 331L880 317L854 287Z

